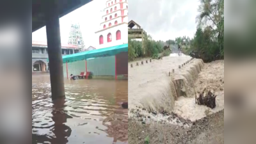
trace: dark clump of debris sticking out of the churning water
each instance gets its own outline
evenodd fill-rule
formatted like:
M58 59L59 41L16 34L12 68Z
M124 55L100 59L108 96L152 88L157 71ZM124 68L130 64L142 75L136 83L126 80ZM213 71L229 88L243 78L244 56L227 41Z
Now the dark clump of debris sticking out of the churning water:
M199 97L196 97L196 104L205 105L211 109L216 107L216 97L211 91L209 91L206 95L204 95L204 91L199 94Z

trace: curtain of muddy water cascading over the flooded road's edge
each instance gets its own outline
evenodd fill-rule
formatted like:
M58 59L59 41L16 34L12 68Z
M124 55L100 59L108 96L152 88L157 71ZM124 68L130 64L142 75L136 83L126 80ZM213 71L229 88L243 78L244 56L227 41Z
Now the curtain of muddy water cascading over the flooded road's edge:
M175 106L175 100L180 96L195 95L193 84L203 66L202 60L192 60L170 76L159 77L158 81L148 84L154 91L146 92L148 97L140 99L141 108L148 113L170 113Z

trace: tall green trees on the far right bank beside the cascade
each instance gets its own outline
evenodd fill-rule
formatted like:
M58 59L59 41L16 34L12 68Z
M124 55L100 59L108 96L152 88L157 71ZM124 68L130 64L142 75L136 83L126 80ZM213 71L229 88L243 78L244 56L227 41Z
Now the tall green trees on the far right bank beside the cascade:
M200 1L191 49L205 62L224 58L224 0Z

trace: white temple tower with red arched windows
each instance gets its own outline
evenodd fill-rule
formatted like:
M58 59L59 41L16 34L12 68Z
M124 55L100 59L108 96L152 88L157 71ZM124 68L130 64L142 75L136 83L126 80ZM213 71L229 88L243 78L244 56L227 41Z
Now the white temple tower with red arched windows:
M128 43L128 1L107 0L102 13L100 30L96 31L99 38L97 49Z

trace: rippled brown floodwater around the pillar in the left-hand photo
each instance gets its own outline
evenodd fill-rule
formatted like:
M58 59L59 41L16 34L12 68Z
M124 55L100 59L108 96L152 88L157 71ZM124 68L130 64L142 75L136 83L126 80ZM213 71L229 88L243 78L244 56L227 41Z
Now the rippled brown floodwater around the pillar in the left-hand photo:
M32 76L33 143L127 143L128 81L65 79L52 101L49 74Z

